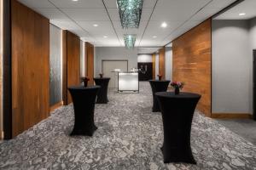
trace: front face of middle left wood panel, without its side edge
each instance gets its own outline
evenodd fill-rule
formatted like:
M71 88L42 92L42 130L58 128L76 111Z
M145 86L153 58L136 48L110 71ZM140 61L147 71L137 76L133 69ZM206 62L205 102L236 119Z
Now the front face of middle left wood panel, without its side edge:
M80 84L80 38L67 31L67 87ZM66 88L67 89L67 88ZM72 103L67 91L67 104Z

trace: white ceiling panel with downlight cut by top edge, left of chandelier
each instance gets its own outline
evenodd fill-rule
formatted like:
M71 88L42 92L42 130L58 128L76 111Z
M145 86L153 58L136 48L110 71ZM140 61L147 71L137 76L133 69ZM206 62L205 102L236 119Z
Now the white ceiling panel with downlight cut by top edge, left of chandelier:
M49 0L57 8L104 8L102 0Z

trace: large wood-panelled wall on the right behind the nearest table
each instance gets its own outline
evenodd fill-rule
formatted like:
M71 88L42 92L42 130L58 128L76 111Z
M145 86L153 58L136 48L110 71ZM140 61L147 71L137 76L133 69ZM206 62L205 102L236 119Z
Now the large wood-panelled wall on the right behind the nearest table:
M211 116L212 20L172 42L173 81L185 82L183 91L201 94L197 109Z

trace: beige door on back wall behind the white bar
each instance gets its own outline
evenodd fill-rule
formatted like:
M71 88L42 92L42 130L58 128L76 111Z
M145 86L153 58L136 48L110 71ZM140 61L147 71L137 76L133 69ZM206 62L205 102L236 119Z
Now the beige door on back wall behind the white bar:
M104 77L110 77L108 88L117 88L118 78L115 69L128 71L128 60L102 60L102 73Z

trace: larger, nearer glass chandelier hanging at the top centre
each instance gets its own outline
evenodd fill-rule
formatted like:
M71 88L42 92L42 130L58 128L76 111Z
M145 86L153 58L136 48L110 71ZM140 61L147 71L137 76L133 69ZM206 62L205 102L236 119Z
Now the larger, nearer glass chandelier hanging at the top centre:
M138 28L141 21L143 0L117 0L121 25L124 28Z

